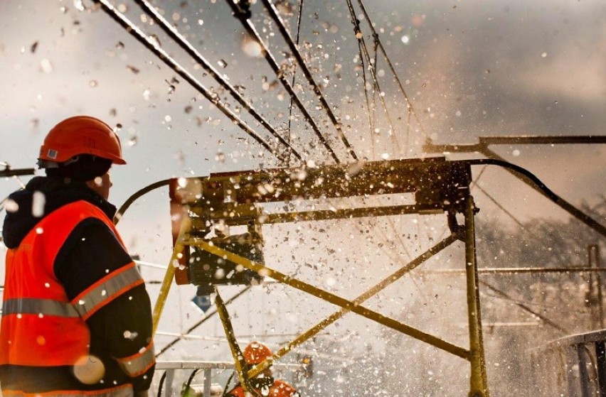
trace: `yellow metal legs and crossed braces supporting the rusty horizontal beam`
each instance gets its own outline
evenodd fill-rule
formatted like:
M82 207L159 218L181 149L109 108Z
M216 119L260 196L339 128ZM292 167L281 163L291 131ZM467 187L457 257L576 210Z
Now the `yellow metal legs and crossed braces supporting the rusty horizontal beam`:
M238 375L240 376L240 382L241 384L243 384L244 387L246 387L245 385L248 385L248 379L254 378L258 374L260 374L264 369L270 367L273 361L280 359L285 354L294 349L294 347L297 347L299 344L302 344L307 339L314 337L326 327L331 325L333 322L343 317L343 315L345 315L347 312L355 312L358 315L368 318L369 320L378 322L381 325L390 327L393 330L402 332L405 335L409 335L410 337L418 339L422 342L431 344L432 346L437 347L438 349L442 349L445 352L449 352L450 354L454 354L457 357L466 359L471 364L469 396L489 397L486 364L484 359L484 345L482 340L482 318L479 310L479 293L477 290L478 278L477 264L475 260L473 212L473 200L472 197L469 197L468 210L465 214L465 232L456 232L454 234L451 234L446 239L440 241L440 243L436 244L435 246L432 246L429 250L425 251L423 254L413 259L413 261L410 261L405 266L398 269L398 271L395 271L395 273L390 274L390 276L384 278L383 281L374 285L373 288L353 300L341 298L338 295L334 295L333 293L329 293L328 291L322 290L321 288L317 288L314 285L305 283L304 281L300 281L297 278L287 276L286 274L280 273L280 271L276 271L275 269L264 266L261 263L250 261L250 259L244 258L243 256L233 254L232 252L227 251L225 249L221 249L218 246L208 244L208 242L204 239L191 237L188 238L186 226L181 230L179 239L175 244L175 249L173 255L171 256L171 263L169 264L168 269L166 271L164 283L162 284L159 298L156 301L156 306L154 308L154 332L157 329L161 312L164 308L164 303L166 302L166 298L170 290L171 281L174 277L174 268L176 267L176 261L178 260L179 252L183 249L183 246L197 246L198 248L203 249L213 255L219 256L223 259L227 259L228 261L233 261L234 263L238 263L239 265L244 266L245 268L248 268L252 271L256 271L257 273L261 273L265 276L275 279L276 281L280 281L281 283L290 285L293 288L302 290L305 293L314 295L317 298L326 300L327 302L337 305L341 308L341 310L339 310L338 312L334 312L329 317L326 317L324 320L321 320L321 322L319 322L317 325L314 325L314 327L310 328L306 332L303 332L301 335L299 335L299 337L293 339L284 347L280 348L277 352L275 352L272 357L258 364L257 366L255 366L255 368L250 369L250 371L248 371L247 373L246 371L243 371L243 368L245 367L243 366L243 363L240 362L240 357L242 357L242 354L238 354L239 347L237 347L237 342L235 342L235 337L233 335L233 330L231 329L227 311L225 309L225 306L223 305L223 300L220 298L220 295L217 294L216 304L218 312L221 321L223 322L223 325L225 327L226 335L228 335L228 342L230 342L230 349L235 359L235 365L238 371ZM433 335L427 334L426 332L422 332L421 330L418 330L414 327L410 327L409 325L405 325L402 322L399 322L398 320L386 317L381 313L378 313L361 305L361 303L365 302L373 295L379 293L388 285L395 282L396 280L407 274L409 271L419 266L422 262L426 261L427 259L430 259L430 257L442 251L442 249L445 249L447 246L450 246L452 243L454 243L454 241L460 239L463 239L466 245L465 267L467 273L467 306L469 309L469 349L464 349L463 347L459 347L455 344L447 342L444 339L440 339ZM229 330L231 330L231 332Z

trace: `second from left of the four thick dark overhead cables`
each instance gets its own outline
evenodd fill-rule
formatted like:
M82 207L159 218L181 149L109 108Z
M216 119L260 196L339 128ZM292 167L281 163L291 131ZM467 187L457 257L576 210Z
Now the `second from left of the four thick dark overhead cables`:
M294 156L299 160L302 160L301 155L276 131L269 121L259 114L259 112L252 107L252 104L244 99L238 90L230 85L230 83L220 75L220 73L211 65L210 62L208 62L208 60L206 60L206 58L204 58L203 55L196 50L196 48L194 48L193 45L191 45L191 43L189 43L189 41L183 35L181 35L181 33L179 33L174 26L171 26L170 23L166 21L166 18L161 16L157 9L151 6L147 0L134 0L134 2L139 4L144 11L149 13L151 18L153 18L154 21L159 24L164 33L169 35L177 44L179 44L181 48L186 51L186 53L191 55L191 57L195 59L196 62L198 62L198 64L201 65L204 70L206 70L223 88L227 89L231 96L234 97L234 99L238 101L238 103L242 105L242 107L244 107L248 113L255 117L255 119L259 121L259 123L264 126L267 131L270 131L270 133L275 136L280 143L287 147L289 152L294 154Z

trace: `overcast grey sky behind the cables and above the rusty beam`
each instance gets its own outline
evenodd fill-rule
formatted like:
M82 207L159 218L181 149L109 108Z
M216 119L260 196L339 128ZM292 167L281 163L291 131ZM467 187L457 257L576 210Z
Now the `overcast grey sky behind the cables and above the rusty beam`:
M287 47L261 3L253 6L252 21L277 61L286 65ZM353 3L361 17L357 1ZM164 33L151 26L134 2L115 4L139 27L156 35L162 48L203 85L214 87L230 109L239 108ZM287 136L287 92L267 62L255 58L254 45L251 49L225 1L154 4ZM280 1L293 36L297 4ZM377 92L372 112L377 121L371 133L360 55L345 1L305 1L300 28L304 59L360 158L437 156L422 153L427 138L435 143L477 143L479 136L606 135L604 1L372 0L365 5L415 112L410 128L403 95L379 53L376 74L388 113ZM116 205L142 187L174 176L282 165L105 12L93 9L90 1L4 0L0 13L0 161L13 168L33 167L50 127L68 116L90 114L121 126L128 165L112 171L115 186L110 201ZM373 57L371 31L361 19ZM292 77L292 69L286 70ZM371 81L369 74L366 78ZM296 79L322 134L341 161L351 161L336 129L317 110L319 104L300 70ZM368 92L372 99L370 86ZM238 114L268 136L244 111ZM293 115L290 139L304 160L333 163L300 112L295 110ZM536 173L575 205L604 202L605 145L494 150ZM456 158L472 157L477 155ZM474 172L477 175L479 170ZM502 170L487 170L479 184L523 219L563 214ZM0 198L16 188L15 180L0 180ZM508 222L480 192L477 201L482 215ZM159 190L139 200L118 228L133 253L146 261L166 263L171 248L169 222L167 192ZM184 299L191 293L188 289ZM184 324L196 317L190 308L180 310Z

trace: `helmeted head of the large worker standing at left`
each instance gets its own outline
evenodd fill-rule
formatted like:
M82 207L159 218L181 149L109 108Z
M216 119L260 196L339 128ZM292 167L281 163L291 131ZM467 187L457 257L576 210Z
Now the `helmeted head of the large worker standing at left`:
M73 116L53 127L40 148L38 165L48 176L86 183L107 199L112 164L126 164L117 134L100 119Z

